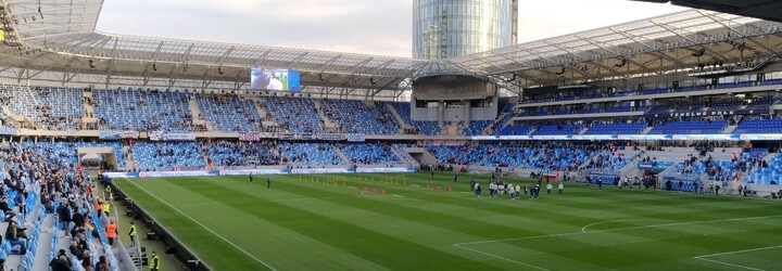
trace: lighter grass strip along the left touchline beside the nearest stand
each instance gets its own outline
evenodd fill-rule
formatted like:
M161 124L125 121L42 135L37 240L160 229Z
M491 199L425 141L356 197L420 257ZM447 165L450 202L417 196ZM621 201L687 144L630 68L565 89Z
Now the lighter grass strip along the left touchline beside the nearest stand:
M215 179L223 180L223 178ZM167 178L157 179L155 181L144 180L137 183L155 193L164 192L159 195L161 197L164 197L168 203L177 206L180 210L187 212L192 218L201 221L204 225L219 232L226 238L234 241L238 246L244 248L253 255L258 256L258 258L263 259L275 268L279 269L280 267L285 267L285 269L289 270L386 270L386 268L383 267L377 266L365 259L355 257L352 254L342 251L336 247L331 247L325 243L299 234L298 232L294 232L292 230L279 227L278 224L269 222L263 218L249 216L245 212L231 208L230 206L219 204L220 202L230 202L237 205L245 205L252 207L257 205L257 201L238 202L232 198L234 193L230 191L226 191L226 193L223 193L219 197L206 197L177 186L176 183L180 182L192 183L189 178ZM215 181L213 180L212 182ZM194 186L197 189L209 189L198 185ZM276 190L268 190L267 192L265 188L263 188L263 190L260 190L260 185L253 186L254 189L250 191L263 192L258 194L263 195L264 197L273 198L275 202L291 202L287 201L291 197L290 195L286 195L283 193L275 193ZM293 202L312 205L315 203L315 201L316 199L314 198L310 198L308 201L298 198ZM179 205L177 205L176 203L179 203ZM184 217L180 219L187 221L188 223L191 223ZM172 228L168 229L173 232L178 232L179 230ZM204 231L203 234L206 236L212 236L206 231ZM189 237L188 240L184 240L182 242L199 244L201 240L200 237ZM218 242L219 244L225 244L216 237L215 242ZM226 244L226 246L228 245ZM224 256L224 253L220 250L210 249L206 250L204 254L210 257L214 257L215 255L217 255L218 257L223 258L241 258L241 261L244 262L255 262L250 258L243 259L243 257L241 257L243 256L243 254L240 251L236 251L236 254L232 255ZM206 260L206 262L219 262L219 260L222 259L218 258L217 260ZM253 269L236 269L228 267L230 266L214 264L214 268L216 270L260 270L263 268L261 264L258 264L257 268Z

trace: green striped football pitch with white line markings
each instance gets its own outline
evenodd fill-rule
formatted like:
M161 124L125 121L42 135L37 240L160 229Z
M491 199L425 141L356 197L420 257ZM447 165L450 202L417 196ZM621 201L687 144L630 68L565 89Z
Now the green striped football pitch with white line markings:
M563 196L543 190L539 199L510 201L488 197L488 178L475 177L477 198L470 178L273 176L272 189L265 176L252 184L247 176L115 183L215 270L782 268L782 202L581 183L566 184Z

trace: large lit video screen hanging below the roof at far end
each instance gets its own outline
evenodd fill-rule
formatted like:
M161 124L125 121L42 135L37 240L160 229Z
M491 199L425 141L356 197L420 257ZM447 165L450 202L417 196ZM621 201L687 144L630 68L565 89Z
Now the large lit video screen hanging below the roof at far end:
M261 90L299 91L301 73L295 69L253 67L250 69L250 87Z

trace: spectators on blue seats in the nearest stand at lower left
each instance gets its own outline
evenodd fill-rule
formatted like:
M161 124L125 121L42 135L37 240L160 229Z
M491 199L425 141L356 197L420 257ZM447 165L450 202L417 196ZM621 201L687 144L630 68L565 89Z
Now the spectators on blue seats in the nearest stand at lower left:
M37 249L50 249L52 270L118 270L114 253L103 242L106 233L100 229L106 217L93 211L102 203L83 168L53 149L5 141L0 143L0 209L2 224L8 227L0 245L4 264L42 270L45 267L36 266ZM48 216L55 216L55 225L41 231ZM39 247L42 232L52 232L53 241L64 236L68 242Z

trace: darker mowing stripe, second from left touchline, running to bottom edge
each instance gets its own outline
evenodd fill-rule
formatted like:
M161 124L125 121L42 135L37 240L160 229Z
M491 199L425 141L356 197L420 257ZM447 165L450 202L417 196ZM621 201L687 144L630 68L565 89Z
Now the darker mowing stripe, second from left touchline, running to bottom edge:
M182 189L190 190L207 197L220 197L227 188L205 181L191 179L177 182ZM277 183L275 189L283 184ZM201 189L197 189L200 186ZM475 261L458 255L430 248L417 243L401 240L396 236L379 233L356 224L351 224L329 218L325 214L315 214L298 209L280 203L272 202L247 192L230 191L232 199L238 202L257 199L256 206L248 208L247 205L228 204L231 208L241 210L250 216L262 217L267 221L277 223L287 229L297 231L314 240L327 243L344 251L350 251L366 260L389 269L418 270L442 269L442 264L453 264L464 270L495 269L493 266ZM317 197L317 195L313 195ZM426 257L426 259L421 259Z

